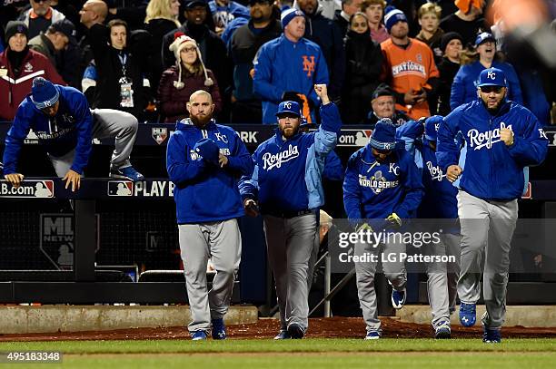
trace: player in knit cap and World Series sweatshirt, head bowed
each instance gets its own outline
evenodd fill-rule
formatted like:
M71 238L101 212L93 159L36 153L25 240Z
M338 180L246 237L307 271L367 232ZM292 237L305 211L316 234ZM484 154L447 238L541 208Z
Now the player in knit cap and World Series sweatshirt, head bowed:
M355 151L348 160L343 180L343 206L358 230L388 229L395 233L402 221L413 218L422 199L421 173L413 158L395 140L396 127L388 118L376 123L369 143ZM401 309L405 303L407 273L400 260L405 245L389 238L377 247L368 243L355 244L354 256L392 255L395 259L383 263L384 275L392 285L392 306ZM374 273L378 260L356 262L357 293L362 315L367 325L365 339L382 335L376 308Z

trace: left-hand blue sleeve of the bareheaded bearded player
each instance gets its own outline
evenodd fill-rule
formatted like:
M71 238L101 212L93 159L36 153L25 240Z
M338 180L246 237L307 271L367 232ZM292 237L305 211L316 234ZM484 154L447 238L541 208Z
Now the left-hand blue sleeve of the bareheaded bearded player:
M193 182L204 175L204 160L189 160L187 144L179 133L170 136L166 148L166 170L168 178L176 186Z

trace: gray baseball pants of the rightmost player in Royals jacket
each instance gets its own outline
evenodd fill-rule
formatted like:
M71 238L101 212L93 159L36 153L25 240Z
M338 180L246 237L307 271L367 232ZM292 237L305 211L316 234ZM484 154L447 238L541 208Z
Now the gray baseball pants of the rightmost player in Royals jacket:
M518 218L517 199L486 201L460 190L458 215L462 225L458 296L468 304L479 300L484 259L482 292L487 313L482 317L482 324L489 329L500 329L506 314L511 238Z

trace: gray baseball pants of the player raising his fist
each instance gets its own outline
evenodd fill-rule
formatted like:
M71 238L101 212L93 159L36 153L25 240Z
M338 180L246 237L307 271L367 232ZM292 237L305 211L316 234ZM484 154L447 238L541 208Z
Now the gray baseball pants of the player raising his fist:
M280 328L293 323L307 330L309 315L307 272L315 242L319 241L318 215L294 218L265 215L264 235L280 308ZM315 239L316 238L316 239Z

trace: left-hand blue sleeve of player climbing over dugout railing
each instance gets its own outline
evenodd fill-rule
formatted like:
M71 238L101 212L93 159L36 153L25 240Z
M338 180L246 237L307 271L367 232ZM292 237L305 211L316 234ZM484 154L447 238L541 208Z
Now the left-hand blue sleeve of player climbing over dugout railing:
M12 123L10 131L5 136L4 149L4 174L13 174L17 172L17 160L19 152L24 144L25 137L29 133L29 121L31 117L25 109L21 107L15 113L15 119Z

